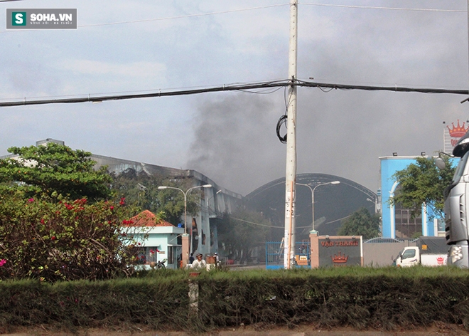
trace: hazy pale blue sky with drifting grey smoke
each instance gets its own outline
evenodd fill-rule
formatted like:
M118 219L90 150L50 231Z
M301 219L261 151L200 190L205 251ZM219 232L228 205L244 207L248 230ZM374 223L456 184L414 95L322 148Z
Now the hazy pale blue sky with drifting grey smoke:
M0 101L284 79L288 2L0 2L1 13L78 13L75 31L6 31L0 15ZM300 79L467 89L468 63L466 1L299 1ZM443 149L442 122L468 119L465 98L300 88L298 173L336 174L376 191L378 157ZM284 111L283 89L0 107L0 155L51 137L95 154L195 169L248 194L285 174L286 147L275 134Z

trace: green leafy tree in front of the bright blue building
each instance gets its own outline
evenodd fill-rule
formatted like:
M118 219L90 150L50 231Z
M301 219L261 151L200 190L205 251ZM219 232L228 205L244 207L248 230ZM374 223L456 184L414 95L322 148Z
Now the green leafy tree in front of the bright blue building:
M443 160L446 169L438 169L433 157L417 157L415 163L396 172L393 178L399 182L399 192L389 199L390 204L401 204L415 216L425 203L434 214L443 217L443 191L451 184L455 172L449 158Z

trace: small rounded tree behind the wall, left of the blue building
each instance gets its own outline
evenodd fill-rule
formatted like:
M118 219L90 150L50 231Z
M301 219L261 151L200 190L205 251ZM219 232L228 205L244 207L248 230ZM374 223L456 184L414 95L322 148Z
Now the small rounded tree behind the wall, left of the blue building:
M343 220L338 231L339 236L363 236L370 239L379 236L379 215L370 214L366 208L360 208Z

